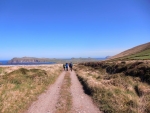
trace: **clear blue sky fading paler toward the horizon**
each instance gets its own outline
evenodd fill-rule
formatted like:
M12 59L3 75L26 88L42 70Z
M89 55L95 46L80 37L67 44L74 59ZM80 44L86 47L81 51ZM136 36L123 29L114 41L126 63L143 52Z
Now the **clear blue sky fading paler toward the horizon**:
M149 41L149 0L0 0L0 59L105 57Z

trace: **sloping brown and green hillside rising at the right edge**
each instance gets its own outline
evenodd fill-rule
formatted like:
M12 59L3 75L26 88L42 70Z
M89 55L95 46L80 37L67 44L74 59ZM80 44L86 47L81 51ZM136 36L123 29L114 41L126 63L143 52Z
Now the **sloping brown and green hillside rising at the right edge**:
M137 60L137 59L150 59L150 42L142 44L124 52L121 52L109 59L126 59L126 60Z

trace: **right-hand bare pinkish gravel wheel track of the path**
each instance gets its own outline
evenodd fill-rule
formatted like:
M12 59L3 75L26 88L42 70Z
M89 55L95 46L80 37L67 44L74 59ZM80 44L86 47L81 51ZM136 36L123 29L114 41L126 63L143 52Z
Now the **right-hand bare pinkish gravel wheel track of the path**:
M70 72L71 77L71 95L73 101L72 113L101 113L93 103L92 99L84 93L74 71Z

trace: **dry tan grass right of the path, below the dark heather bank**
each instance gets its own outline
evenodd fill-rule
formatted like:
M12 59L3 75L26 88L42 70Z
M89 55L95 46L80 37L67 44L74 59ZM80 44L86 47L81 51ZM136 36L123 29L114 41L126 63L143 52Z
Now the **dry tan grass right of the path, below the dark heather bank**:
M137 76L108 74L100 67L76 67L85 90L104 113L149 113L150 86Z

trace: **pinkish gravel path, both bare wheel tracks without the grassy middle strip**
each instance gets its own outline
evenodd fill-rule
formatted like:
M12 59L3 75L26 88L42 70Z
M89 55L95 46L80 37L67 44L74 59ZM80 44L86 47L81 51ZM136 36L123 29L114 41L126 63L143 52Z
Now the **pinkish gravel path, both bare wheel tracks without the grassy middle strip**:
M101 113L93 104L92 99L84 93L75 72L72 71L69 74L70 79L68 80L71 80L70 93L72 100L72 108L69 113ZM25 113L57 113L57 105L61 100L61 87L63 86L65 75L66 72L62 72L57 81L45 93L41 94Z

